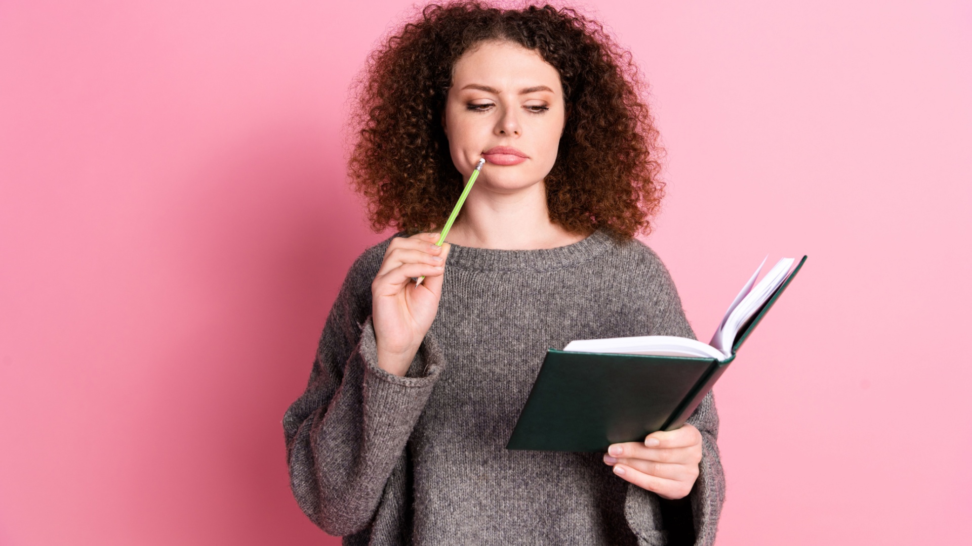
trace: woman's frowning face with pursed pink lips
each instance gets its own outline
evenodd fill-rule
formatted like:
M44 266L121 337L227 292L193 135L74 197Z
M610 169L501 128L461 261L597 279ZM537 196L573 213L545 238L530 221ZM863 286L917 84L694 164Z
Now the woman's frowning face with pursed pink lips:
M486 159L476 187L514 192L542 182L565 119L560 75L536 51L485 42L453 67L442 126L464 177Z

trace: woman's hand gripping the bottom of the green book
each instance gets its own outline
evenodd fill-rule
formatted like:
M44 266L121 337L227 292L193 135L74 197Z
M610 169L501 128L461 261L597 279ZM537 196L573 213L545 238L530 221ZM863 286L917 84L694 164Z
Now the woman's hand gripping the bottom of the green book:
M605 462L614 473L663 498L681 498L692 491L702 461L702 433L691 425L658 430L644 442L625 442L608 447Z

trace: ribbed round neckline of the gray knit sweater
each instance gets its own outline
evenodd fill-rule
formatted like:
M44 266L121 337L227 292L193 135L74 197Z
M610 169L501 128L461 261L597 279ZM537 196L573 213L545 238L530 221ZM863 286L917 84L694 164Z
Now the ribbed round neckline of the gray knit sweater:
M611 244L611 236L603 229L576 243L552 249L510 251L464 247L453 243L446 263L449 267L476 271L548 271L600 256Z

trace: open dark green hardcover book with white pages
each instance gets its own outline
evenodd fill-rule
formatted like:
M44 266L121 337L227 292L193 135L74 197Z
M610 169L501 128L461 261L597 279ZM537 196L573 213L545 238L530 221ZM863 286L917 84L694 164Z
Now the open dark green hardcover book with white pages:
M803 256L790 271L794 260L783 258L756 283L764 259L729 306L711 345L649 335L548 349L506 449L604 451L681 427L806 260Z

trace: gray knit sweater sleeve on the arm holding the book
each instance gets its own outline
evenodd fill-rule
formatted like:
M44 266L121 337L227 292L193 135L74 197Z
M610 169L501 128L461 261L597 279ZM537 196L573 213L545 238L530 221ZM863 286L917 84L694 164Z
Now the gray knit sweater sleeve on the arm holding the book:
M677 290L668 270L655 259L650 278L654 280L652 303L652 335L677 335L695 339L692 327L685 319ZM712 392L706 394L702 403L688 418L688 424L702 433L702 461L699 462L699 477L688 495L688 502L672 502L662 497L628 484L625 498L625 516L629 526L638 536L640 546L670 544L675 533L670 533L671 521L665 521L662 514L673 514L677 510L691 510L696 546L711 546L715 541L715 530L719 513L725 498L725 477L719 450L715 443L718 435L719 419L715 411ZM662 503L669 503L662 509ZM687 514L686 514L687 516ZM688 519L688 518L685 518ZM674 530L674 529L673 529Z

